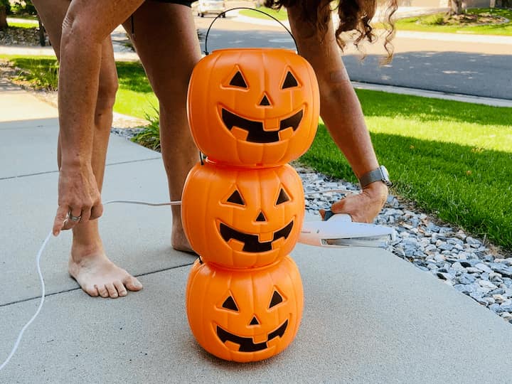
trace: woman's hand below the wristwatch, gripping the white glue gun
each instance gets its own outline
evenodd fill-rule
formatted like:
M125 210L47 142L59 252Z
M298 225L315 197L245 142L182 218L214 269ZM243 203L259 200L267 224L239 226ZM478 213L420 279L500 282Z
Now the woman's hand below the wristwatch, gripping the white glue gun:
M336 201L331 207L333 213L348 213L352 221L358 223L373 223L388 198L388 187L385 183L375 181L363 189L361 193L349 195ZM322 219L325 210L320 210Z

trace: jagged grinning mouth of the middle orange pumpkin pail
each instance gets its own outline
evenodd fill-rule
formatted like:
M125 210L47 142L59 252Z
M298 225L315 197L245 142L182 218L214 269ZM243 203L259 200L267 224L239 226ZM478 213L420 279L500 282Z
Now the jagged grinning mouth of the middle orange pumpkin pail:
M284 240L286 240L290 232L292 232L293 226L294 220L290 221L288 225L274 233L251 235L250 233L242 233L231 228L229 225L220 223L219 231L225 242L229 242L233 239L243 243L243 252L267 252L272 250L272 242L279 240L280 238L284 238ZM260 241L260 238L265 237L265 235L272 236L272 240Z

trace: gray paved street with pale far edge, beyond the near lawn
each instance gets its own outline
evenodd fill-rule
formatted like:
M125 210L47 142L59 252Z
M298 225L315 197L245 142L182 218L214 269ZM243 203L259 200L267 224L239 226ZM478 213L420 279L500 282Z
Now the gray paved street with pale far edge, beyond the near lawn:
M196 18L206 31L213 16ZM366 60L354 48L344 58L353 81L420 88L441 92L512 100L512 38L460 36L445 33L399 32L393 41L395 56L380 66L382 43L365 46ZM208 49L270 46L292 48L292 38L279 25L256 25L218 19L208 38Z

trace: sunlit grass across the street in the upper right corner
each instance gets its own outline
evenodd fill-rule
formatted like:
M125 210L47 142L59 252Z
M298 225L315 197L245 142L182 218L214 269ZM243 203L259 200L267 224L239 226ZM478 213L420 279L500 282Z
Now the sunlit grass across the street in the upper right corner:
M444 33L470 33L481 35L505 35L512 36L512 9L468 9L468 14L492 14L508 18L508 23L489 24L481 26L464 25L439 25L444 14L430 16L419 16L402 18L395 24L398 31L422 31L422 32L444 32ZM377 25L378 26L378 25Z

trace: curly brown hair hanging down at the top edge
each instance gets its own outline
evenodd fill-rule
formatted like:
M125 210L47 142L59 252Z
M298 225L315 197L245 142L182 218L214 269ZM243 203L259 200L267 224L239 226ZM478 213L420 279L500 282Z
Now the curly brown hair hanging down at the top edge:
M393 14L398 8L398 0L388 0L388 9L385 12L385 42L384 48L388 52L389 61L393 56L393 45L391 40L395 35L395 23L392 20ZM375 16L377 8L376 0L265 0L265 6L272 9L297 7L302 20L311 24L316 31L325 36L328 23L331 19L331 12L337 11L340 24L336 29L336 41L343 50L346 41L341 38L341 33L348 31L356 32L354 46L359 48L361 41L375 41L375 33L370 21Z

